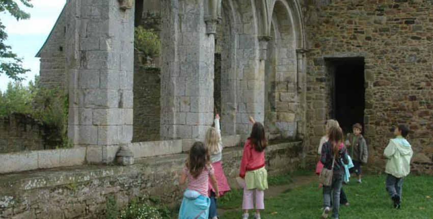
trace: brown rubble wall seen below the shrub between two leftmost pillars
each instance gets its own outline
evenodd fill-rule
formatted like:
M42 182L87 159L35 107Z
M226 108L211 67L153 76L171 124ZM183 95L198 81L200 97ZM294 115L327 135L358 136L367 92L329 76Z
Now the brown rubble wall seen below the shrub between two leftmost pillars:
M157 68L134 67L132 142L159 140L161 79Z

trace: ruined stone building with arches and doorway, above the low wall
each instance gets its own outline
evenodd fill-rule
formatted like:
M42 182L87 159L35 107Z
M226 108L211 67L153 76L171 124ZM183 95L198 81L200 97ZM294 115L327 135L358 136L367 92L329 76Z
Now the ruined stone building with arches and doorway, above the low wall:
M38 53L41 83L69 90L69 138L95 162L131 141L182 139L185 151L216 109L223 135L245 139L253 116L270 140L303 140L306 165L327 119L363 124L372 163L406 123L414 166L431 170L432 4L69 0ZM137 62L138 25L160 36L159 68Z

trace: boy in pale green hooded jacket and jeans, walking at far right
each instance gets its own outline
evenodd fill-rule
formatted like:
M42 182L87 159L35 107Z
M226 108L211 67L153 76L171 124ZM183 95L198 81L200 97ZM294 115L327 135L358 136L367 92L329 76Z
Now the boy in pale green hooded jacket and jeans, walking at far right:
M388 174L386 179L386 189L394 202L394 208L400 209L401 190L403 178L411 170L411 158L413 155L412 147L405 139L409 134L409 128L405 125L398 125L394 130L395 139L389 141L385 148L384 156L387 158L385 172Z

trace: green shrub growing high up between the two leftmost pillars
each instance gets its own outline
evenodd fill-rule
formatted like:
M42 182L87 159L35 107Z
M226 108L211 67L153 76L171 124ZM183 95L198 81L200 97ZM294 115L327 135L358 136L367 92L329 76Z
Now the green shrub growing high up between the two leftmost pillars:
M153 29L138 26L134 30L134 48L143 52L145 57L159 56L161 41Z

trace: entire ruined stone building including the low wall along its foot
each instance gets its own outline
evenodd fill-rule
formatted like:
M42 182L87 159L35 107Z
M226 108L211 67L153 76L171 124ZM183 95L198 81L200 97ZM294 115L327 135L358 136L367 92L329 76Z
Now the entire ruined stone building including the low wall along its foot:
M376 172L392 127L408 124L412 172L433 174L432 5L68 0L38 57L41 84L69 92L74 148L0 154L0 217L98 218L107 200L122 207L139 194L179 203L181 152L215 109L225 146L248 136L248 116L264 123L270 174L313 167L330 118L346 132L363 124ZM139 25L160 37L157 68L134 51ZM121 146L136 164L87 165L112 162ZM234 182L241 147L223 153Z

